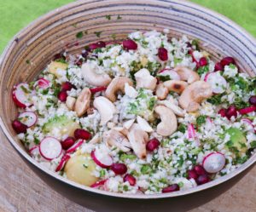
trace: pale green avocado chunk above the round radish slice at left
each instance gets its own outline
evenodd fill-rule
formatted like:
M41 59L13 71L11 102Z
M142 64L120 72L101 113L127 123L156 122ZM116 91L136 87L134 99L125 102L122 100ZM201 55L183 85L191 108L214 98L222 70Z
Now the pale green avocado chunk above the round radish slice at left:
M79 123L76 123L72 118L66 115L49 118L47 123L44 123L43 133L56 138L62 135L73 136L76 129L79 129Z

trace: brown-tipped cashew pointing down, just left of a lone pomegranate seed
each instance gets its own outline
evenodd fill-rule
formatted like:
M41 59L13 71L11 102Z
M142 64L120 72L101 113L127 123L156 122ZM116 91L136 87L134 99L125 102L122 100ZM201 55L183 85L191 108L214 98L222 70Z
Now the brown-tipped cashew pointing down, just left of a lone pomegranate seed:
M137 157L141 159L146 158L146 142L148 141L148 134L143 131L137 123L133 123L127 137Z

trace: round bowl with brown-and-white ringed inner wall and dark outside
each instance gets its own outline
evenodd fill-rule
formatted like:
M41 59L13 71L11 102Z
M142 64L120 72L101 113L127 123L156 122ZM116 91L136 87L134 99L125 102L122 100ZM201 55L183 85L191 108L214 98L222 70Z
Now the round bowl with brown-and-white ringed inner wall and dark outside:
M106 19L109 14L111 20ZM220 14L193 3L172 0L89 0L70 3L32 22L4 50L0 58L0 124L3 132L38 176L67 198L97 211L154 211L166 209L167 206L173 211L184 211L224 192L253 167L256 154L230 175L186 191L156 195L119 194L81 186L55 175L38 165L16 139L10 123L16 114L10 97L16 83L31 81L55 54L64 49L76 54L88 43L113 40L113 34L116 39L122 39L137 29L162 31L165 28L170 29L170 37L187 34L200 38L202 43L207 43L202 45L202 49L207 49L214 60L229 54L236 58L241 70L255 76L256 41L253 37ZM79 32L87 32L87 35L78 39L76 35Z

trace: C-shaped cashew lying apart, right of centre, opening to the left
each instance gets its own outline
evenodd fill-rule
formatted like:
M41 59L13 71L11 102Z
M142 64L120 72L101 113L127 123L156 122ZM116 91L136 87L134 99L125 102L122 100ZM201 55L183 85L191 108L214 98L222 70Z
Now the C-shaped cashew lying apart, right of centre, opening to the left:
M172 135L177 129L177 118L166 106L156 106L154 108L161 119L161 122L156 126L156 132L162 136Z

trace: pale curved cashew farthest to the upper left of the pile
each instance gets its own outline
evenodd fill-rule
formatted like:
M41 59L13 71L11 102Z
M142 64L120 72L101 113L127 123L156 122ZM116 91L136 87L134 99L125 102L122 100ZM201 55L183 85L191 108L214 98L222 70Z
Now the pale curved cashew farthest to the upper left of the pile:
M84 63L81 72L84 80L91 85L108 86L111 82L111 77L107 73L99 73L99 66L92 61Z

